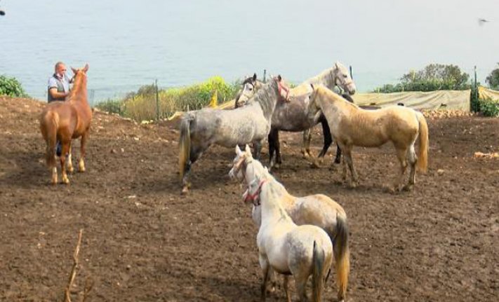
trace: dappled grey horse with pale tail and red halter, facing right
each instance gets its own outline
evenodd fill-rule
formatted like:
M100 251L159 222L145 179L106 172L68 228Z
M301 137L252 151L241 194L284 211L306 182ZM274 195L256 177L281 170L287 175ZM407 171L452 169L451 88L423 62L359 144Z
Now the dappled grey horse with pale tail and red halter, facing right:
M269 135L272 114L281 97L281 85L281 76L277 76L258 90L247 106L234 110L204 108L182 117L178 158L182 193L189 190L191 165L212 144L234 147L253 143L255 157L260 157L262 140Z

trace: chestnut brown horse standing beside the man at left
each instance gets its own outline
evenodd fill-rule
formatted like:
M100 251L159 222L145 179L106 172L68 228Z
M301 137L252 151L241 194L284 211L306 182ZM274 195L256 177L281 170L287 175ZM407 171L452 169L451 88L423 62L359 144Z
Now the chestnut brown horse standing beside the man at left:
M86 91L86 72L88 64L82 69L74 69L74 85L64 102L51 102L47 104L40 116L40 130L47 144L46 162L52 171L52 184L57 184L57 168L55 167L55 144L60 142L61 155L60 169L62 183L69 184L66 174L66 156L68 156L67 170L73 172L71 160L72 139L81 137L81 152L78 163L79 172L85 172L85 145L90 132L92 109L88 105Z

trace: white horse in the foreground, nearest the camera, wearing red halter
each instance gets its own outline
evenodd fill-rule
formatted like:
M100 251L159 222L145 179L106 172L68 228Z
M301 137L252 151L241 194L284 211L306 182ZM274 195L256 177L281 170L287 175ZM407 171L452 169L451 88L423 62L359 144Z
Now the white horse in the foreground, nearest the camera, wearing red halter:
M247 149L249 151L249 148ZM251 155L251 151L249 154ZM281 205L281 201L288 198L286 189L258 160L253 160L253 163L257 166L255 171L258 172L253 173L254 178L246 179L246 197L252 196L253 200L260 200L261 224L256 241L263 273L262 301L265 301L271 268L277 273L293 275L300 301L307 301L305 287L312 275L312 300L321 301L324 280L333 261L331 240L328 234L317 226L298 226L293 223ZM286 298L291 301L287 278L284 281L284 290Z

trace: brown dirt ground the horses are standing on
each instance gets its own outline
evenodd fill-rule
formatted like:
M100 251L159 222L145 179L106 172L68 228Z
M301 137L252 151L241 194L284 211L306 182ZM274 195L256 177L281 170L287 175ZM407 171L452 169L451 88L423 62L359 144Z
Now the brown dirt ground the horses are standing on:
M258 230L244 189L227 177L232 149L211 148L182 196L178 131L95 113L87 172L51 186L43 106L0 98L0 301L60 300L80 228L74 292L93 280L88 301L259 300ZM300 156L301 135L281 137L284 163L275 175L288 191L325 193L345 207L347 301L497 301L499 158L474 152L499 151L499 119L428 121L429 172L397 195L382 188L397 169L392 146L354 149L360 186L348 188L328 169L331 156L311 169ZM328 282L325 301L335 292ZM269 301L284 301L280 287Z

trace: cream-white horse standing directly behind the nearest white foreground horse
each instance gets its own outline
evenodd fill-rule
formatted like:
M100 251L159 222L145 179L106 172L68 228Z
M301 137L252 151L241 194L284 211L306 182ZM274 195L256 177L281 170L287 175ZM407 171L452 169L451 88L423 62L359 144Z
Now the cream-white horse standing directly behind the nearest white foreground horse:
M250 186L253 179L260 179L265 174L268 174L258 160L253 160L249 147L246 147L246 151L243 152L237 146L236 154L234 164L229 172L229 176L232 179L238 179L239 181L246 180L246 183ZM279 194L282 196L280 200L282 207L295 224L319 226L331 238L338 282L338 301L343 301L347 291L350 271L350 251L348 248L348 227L345 210L326 195L317 194L301 198L295 197L289 194L286 188L278 181L275 181L273 177L271 179L274 181L276 187L279 188ZM258 200L257 196L248 193L248 191L245 193L245 200L246 202L253 202L253 221L260 227L262 219L260 200Z

